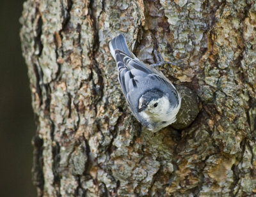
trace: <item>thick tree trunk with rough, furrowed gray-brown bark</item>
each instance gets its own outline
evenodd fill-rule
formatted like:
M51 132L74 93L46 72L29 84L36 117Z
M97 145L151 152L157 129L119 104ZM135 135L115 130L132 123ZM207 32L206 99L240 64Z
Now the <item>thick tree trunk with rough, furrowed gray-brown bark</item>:
M38 196L256 195L256 3L27 0L20 18L37 131ZM196 92L185 129L142 128L108 42ZM182 100L184 102L184 100Z

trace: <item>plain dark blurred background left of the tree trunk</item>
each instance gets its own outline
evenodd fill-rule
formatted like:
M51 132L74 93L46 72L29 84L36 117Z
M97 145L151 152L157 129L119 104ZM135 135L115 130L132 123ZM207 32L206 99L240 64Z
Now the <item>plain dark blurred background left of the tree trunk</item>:
M36 196L31 182L35 122L19 17L24 0L0 3L0 196Z

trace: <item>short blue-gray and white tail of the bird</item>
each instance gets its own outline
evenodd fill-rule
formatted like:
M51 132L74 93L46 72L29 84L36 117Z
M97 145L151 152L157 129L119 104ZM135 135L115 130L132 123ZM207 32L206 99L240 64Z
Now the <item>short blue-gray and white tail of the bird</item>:
M119 34L109 42L109 49L114 59L116 59L116 50L120 50L125 54L129 55L130 57L132 57L123 34Z

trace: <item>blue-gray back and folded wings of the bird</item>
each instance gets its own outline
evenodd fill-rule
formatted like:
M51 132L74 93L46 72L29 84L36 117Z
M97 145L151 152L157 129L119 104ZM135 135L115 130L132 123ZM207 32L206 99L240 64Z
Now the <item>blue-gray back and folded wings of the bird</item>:
M133 59L124 52L116 50L116 66L118 68L119 82L125 98L131 108L133 108L132 110L136 110L141 94L150 89L161 88L166 90L164 93L171 91L175 98L179 100L175 87L168 80L161 77L157 71L148 68L147 65L138 61L138 59Z

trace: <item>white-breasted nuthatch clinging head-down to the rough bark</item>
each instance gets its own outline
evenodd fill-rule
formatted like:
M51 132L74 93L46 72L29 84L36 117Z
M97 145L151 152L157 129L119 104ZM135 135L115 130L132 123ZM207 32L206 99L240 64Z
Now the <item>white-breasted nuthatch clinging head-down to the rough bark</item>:
M129 51L122 34L109 42L109 49L116 61L122 91L136 119L152 131L175 122L181 103L179 92L163 73L153 68L166 63L163 57L158 54L161 62L147 66ZM156 59L159 61L157 55Z

